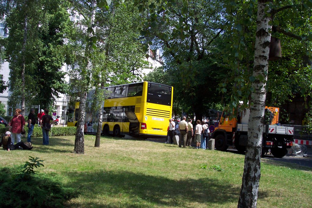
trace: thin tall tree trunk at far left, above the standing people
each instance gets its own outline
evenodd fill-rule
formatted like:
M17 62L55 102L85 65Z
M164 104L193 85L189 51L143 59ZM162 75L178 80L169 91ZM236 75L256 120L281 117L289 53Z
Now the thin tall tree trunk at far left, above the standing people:
M26 41L27 41L27 14L24 17L24 37L23 37L23 45L22 45L22 112L21 114L25 116L25 51L26 51Z

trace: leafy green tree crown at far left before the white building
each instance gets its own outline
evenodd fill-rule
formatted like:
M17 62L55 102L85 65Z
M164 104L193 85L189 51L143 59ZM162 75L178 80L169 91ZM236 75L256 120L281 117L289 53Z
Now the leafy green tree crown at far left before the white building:
M59 94L66 93L61 67L71 62L71 40L74 30L63 0L40 0L27 4L14 2L5 19L10 35L5 39L9 62L11 106L27 94L27 104L48 107ZM27 16L27 40L23 48L24 18ZM65 44L66 41L66 44ZM22 83L22 62L25 59L25 83ZM22 91L22 89L25 90Z

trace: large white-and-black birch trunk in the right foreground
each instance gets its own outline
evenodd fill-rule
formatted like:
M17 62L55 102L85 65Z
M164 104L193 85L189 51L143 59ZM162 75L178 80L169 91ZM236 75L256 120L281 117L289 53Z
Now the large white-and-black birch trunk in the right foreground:
M272 0L270 0L272 2ZM251 94L250 116L248 122L248 141L245 155L245 166L242 178L241 193L237 207L256 207L260 181L260 162L262 149L263 116L266 100L266 80L271 34L265 7L267 0L258 1L257 31L255 43L255 58L253 76L263 76L265 81L258 78L252 84L255 91Z

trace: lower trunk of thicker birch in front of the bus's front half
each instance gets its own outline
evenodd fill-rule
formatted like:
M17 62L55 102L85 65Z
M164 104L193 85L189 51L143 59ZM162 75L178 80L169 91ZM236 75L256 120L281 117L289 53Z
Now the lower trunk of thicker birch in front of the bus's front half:
M85 153L85 102L86 102L87 92L81 92L80 103L79 103L79 114L78 123L76 129L75 137L75 147L74 152L77 154Z

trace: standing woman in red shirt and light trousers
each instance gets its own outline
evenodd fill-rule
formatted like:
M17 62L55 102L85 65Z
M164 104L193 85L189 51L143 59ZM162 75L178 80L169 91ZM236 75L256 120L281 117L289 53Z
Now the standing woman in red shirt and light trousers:
M15 115L13 116L10 124L11 127L9 128L9 131L11 131L11 142L14 144L15 139L16 142L19 143L21 141L22 136L22 130L25 126L25 119L24 116L21 115L21 109L17 108L15 110ZM24 130L25 131L25 130Z

